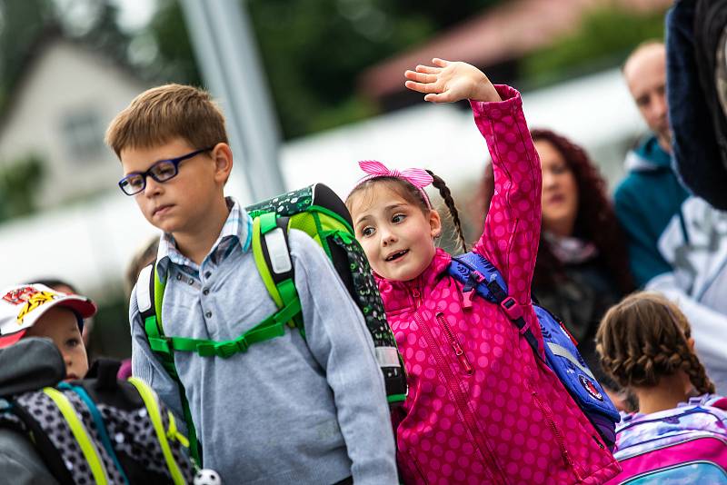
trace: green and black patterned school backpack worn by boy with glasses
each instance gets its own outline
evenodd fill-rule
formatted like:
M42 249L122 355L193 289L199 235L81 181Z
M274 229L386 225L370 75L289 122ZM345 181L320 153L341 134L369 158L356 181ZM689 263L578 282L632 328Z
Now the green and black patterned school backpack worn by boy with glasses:
M255 265L278 311L251 330L230 341L206 341L164 335L161 312L164 283L155 274L155 264L139 274L136 297L149 346L164 369L177 381L189 428L190 450L201 466L201 452L194 432L184 387L174 368L174 351L195 351L203 357L227 358L258 342L280 337L285 327L296 328L305 337L301 303L295 290L294 268L287 238L291 229L309 234L334 264L354 302L364 314L373 338L376 359L383 372L386 397L391 406L406 398L403 360L393 332L386 322L383 302L364 250L354 237L351 215L344 202L323 183L284 193L246 208L253 218L252 248ZM145 291L144 291L145 290Z

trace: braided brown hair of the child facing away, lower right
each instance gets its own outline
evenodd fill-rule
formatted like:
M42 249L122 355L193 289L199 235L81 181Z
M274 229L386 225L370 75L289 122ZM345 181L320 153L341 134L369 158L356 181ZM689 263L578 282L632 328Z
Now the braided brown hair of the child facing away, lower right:
M606 312L596 332L603 371L622 387L653 387L684 371L700 394L713 393L689 344L691 327L679 308L654 292L636 292Z

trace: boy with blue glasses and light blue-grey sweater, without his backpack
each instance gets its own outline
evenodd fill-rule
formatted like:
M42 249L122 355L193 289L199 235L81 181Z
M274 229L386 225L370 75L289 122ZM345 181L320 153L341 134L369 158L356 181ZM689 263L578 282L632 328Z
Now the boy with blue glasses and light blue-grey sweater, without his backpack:
M164 234L168 337L227 341L276 312L250 251L252 220L224 197L233 166L224 117L209 95L179 84L140 94L108 128L122 191ZM175 351L204 467L226 483L396 483L383 377L364 320L324 252L291 231L299 332L223 358ZM175 381L154 357L134 289L134 375L180 416Z

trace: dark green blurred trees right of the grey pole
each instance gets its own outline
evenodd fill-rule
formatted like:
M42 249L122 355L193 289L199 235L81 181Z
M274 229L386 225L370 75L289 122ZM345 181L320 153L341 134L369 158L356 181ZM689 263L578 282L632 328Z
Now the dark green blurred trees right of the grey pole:
M433 34L426 17L395 19L385 2L254 0L249 8L286 137L372 114L353 98L357 75Z

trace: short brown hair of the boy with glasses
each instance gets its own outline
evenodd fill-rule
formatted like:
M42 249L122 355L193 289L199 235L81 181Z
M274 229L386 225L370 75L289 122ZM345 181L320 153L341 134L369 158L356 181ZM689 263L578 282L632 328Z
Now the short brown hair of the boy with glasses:
M116 114L105 142L121 158L124 148L149 148L177 137L198 149L227 143L224 115L209 93L184 84L148 89Z

